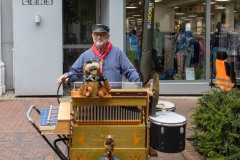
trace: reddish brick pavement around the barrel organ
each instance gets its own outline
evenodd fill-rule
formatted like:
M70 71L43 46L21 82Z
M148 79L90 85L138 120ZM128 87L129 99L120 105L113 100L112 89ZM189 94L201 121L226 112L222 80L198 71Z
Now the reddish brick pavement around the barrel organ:
M190 110L196 106L196 97L161 97L176 105L176 112L187 117L187 128L190 127ZM27 121L26 113L31 105L39 109L58 105L56 98L1 98L0 97L0 160L58 160L58 156L47 145L43 138ZM39 115L31 113L38 124ZM186 136L191 135L187 129ZM56 136L48 136L53 141ZM180 153L160 153L158 158L150 160L204 160L191 144L186 141L186 148Z

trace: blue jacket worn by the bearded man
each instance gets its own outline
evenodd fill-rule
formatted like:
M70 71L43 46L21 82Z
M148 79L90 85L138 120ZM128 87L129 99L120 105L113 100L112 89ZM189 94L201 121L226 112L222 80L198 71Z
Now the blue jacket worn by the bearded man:
M84 63L91 58L100 61L90 48L78 57L67 75L70 76L75 73L83 73ZM126 54L123 53L120 48L115 46L112 47L111 51L104 59L103 75L109 82L122 82L122 75L124 75L130 82L140 82L139 74L127 58ZM76 80L77 76L69 77L69 82L74 82Z

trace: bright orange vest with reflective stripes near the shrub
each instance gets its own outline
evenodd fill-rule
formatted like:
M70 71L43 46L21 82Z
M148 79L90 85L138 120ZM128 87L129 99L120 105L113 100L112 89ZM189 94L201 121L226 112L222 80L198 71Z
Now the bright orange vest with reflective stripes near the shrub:
M232 82L231 77L226 74L226 68L225 68L225 61L224 60L216 60L216 87L224 90L224 91L230 91L235 83Z

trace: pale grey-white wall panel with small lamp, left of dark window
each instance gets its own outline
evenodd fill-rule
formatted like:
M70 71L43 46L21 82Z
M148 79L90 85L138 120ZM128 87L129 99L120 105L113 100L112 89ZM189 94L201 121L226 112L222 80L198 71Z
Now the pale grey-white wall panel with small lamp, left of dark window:
M51 0L50 0L51 1ZM62 1L23 5L13 0L15 95L56 95L62 74ZM35 16L40 15L40 23Z

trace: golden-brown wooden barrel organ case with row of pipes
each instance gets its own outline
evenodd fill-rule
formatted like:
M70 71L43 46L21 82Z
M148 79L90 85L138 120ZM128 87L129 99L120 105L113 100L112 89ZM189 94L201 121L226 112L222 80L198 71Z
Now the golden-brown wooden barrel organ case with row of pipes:
M116 144L114 157L120 160L148 159L148 91L112 89L111 96L85 98L73 90L71 99L70 159L101 159L108 135L114 138Z

